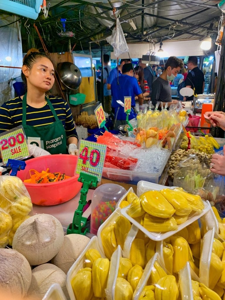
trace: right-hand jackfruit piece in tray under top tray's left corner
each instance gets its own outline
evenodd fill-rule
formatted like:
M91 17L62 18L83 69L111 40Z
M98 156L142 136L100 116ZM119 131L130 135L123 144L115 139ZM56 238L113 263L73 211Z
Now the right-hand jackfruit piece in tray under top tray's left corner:
M119 216L114 224L117 245L123 249L125 238L131 229L131 223L123 216Z

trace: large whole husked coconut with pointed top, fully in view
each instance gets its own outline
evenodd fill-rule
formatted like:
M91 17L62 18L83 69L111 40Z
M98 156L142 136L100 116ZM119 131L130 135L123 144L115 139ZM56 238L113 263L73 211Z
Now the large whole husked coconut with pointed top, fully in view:
M50 214L36 214L25 220L13 237L13 249L22 253L30 265L51 260L64 240L61 223Z

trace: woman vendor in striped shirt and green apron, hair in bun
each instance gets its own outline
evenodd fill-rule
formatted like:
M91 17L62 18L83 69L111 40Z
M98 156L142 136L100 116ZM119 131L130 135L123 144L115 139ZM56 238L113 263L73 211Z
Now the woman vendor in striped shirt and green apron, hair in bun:
M37 49L29 50L23 59L22 79L27 86L25 95L0 107L0 133L22 125L28 144L50 154L77 155L78 136L68 103L46 95L55 82L51 59Z

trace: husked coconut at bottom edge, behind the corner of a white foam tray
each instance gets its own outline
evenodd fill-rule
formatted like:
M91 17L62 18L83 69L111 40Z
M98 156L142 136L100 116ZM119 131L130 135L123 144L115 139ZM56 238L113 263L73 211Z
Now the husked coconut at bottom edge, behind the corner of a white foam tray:
M66 298L69 299L66 288L66 274L56 265L50 263L38 265L32 270L32 280L27 292L27 298L41 300L53 283L58 283Z

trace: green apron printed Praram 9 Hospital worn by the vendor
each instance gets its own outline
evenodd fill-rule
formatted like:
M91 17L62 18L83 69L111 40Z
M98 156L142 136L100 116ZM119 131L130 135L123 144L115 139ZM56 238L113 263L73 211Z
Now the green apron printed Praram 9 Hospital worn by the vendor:
M55 122L44 126L30 126L26 124L26 99L27 94L22 99L22 126L28 144L36 144L51 154L66 154L66 132L49 99L45 96Z

